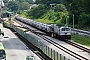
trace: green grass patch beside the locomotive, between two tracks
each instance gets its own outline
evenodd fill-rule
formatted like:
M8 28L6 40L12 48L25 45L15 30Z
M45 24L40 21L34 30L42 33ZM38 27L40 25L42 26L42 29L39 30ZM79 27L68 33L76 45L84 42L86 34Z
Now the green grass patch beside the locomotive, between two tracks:
M80 44L85 45L90 48L90 38L89 37L72 34L71 39L77 43L80 43Z

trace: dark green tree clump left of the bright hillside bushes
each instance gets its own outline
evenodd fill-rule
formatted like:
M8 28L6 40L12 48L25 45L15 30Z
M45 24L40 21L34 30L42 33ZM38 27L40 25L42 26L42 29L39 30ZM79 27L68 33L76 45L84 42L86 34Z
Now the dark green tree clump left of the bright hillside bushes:
M27 16L30 16L31 18L39 18L44 13L46 13L46 7L45 5L41 4L38 7L32 8L27 11Z

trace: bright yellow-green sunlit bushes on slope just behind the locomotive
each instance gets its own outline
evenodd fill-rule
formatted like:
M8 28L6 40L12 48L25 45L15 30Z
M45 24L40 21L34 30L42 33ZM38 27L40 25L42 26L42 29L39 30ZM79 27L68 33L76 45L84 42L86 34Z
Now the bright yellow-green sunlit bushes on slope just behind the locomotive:
M64 25L66 23L66 16L68 15L68 12L55 12L54 10L49 10L46 14L44 14L42 17L43 20L51 20L57 24Z

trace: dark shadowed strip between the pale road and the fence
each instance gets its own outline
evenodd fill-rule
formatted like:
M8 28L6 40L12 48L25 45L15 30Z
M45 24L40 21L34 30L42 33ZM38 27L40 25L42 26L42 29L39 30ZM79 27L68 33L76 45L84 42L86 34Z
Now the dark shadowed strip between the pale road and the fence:
M27 29L26 27L23 27L23 28ZM12 31L15 32L13 29L12 29ZM42 59L42 60L48 60L48 59L52 60L50 57L48 57L46 54L44 54L39 48L37 48L36 46L31 44L28 40L26 40L23 36L21 36L20 34L18 34L16 32L14 34L16 34L21 39L21 41L24 42L24 44L27 45L28 48L30 50L32 50L40 59ZM28 50L28 48L27 48L27 50Z

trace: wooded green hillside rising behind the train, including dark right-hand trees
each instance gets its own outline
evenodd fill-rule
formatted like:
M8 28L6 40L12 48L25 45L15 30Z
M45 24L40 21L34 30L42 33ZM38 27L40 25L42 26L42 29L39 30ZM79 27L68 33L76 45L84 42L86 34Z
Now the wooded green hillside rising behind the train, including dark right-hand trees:
M46 2L47 1L47 2ZM58 2L58 1L54 1ZM86 1L66 1L56 3L56 5L51 8L49 5L53 1L38 1L37 3L42 3L38 7L34 7L27 12L27 16L33 19L39 19L38 21L51 21L51 23L65 24L66 19L69 26L73 24L73 14L75 20L75 27L89 27L90 26L90 11L88 10ZM86 4L87 3L87 4ZM84 5L83 5L84 4ZM87 8L87 9L86 9ZM46 22L47 23L47 22ZM89 27L90 28L90 27Z

